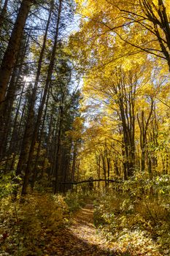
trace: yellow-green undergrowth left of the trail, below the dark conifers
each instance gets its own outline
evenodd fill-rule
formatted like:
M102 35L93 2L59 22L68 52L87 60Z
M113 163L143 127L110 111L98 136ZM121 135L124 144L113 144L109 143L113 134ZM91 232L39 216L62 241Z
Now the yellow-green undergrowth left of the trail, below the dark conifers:
M1 198L0 255L43 255L47 236L69 225L70 215L84 204L83 198L74 193L63 196L38 192L22 201L18 198L12 202L11 196Z

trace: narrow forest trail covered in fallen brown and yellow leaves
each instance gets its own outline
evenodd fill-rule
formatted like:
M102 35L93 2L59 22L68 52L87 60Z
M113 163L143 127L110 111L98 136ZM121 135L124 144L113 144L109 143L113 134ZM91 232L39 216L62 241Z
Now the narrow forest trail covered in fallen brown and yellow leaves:
M74 215L69 228L61 230L53 238L53 246L47 249L47 255L115 256L107 248L104 236L96 231L93 225L93 205L88 204Z

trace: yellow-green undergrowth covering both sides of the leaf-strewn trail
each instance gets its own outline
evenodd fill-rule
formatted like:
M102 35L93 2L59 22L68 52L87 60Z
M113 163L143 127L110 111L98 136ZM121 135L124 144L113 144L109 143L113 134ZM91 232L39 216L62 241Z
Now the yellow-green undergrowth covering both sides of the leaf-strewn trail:
M116 255L169 256L169 181L169 176L125 181L99 196L91 191L64 196L34 192L15 202L6 186L0 201L0 255L43 255L48 238L69 225L74 211L93 201L94 224Z

